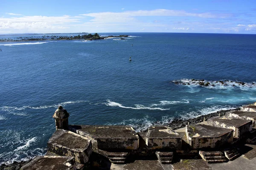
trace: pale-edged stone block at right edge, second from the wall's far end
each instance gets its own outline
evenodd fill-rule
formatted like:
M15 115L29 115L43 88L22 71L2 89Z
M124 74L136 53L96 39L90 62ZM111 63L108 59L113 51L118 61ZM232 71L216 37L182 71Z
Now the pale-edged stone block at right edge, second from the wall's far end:
M256 112L234 111L234 112L231 112L231 113L226 113L225 116L228 117L228 118L233 118L233 119L252 120L253 121L253 127L255 127Z

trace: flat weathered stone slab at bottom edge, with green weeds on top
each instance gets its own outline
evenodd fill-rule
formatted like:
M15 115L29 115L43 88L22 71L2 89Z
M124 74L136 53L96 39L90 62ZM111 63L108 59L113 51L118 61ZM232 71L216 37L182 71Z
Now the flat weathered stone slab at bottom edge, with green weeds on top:
M172 170L212 170L203 159L183 159L172 165Z

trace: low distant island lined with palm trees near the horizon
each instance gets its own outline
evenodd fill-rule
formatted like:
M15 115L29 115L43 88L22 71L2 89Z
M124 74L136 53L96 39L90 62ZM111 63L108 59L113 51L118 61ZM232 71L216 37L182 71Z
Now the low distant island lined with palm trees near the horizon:
M84 34L80 35L78 34L77 36L56 36L56 35L43 35L41 37L15 37L14 40L11 38L8 39L0 39L0 42L13 42L13 41L44 41L44 40L103 40L105 38L112 38L112 37L128 37L128 35L119 35L119 36L107 36L107 37L102 37L98 33L95 34ZM124 39L124 38L121 38Z

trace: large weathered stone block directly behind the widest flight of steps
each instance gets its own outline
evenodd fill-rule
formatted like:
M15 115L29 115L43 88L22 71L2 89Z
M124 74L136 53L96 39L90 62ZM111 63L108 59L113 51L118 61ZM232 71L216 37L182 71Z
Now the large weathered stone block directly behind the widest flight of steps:
M218 148L233 142L233 130L209 125L187 125L187 143L196 148Z

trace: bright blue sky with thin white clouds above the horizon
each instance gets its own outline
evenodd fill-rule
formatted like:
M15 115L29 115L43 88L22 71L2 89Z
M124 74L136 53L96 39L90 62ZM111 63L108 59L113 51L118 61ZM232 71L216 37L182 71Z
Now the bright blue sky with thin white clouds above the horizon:
M256 0L0 0L0 34L256 34Z

